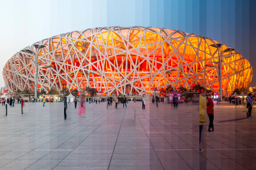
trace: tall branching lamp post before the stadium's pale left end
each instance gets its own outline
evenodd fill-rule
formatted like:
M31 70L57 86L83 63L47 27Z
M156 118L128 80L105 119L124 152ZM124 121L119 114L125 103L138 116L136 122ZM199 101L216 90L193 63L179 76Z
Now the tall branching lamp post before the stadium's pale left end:
M35 65L35 69L36 69L36 73L35 73L35 87L34 87L35 88L35 90L34 90L35 96L34 96L34 98L37 101L38 53L39 53L39 50L41 48L44 48L46 46L45 45L35 44L34 47L36 48L36 53L33 52L33 50L30 50L30 49L23 49L23 50L21 50L21 52L32 54L34 56L34 58L31 58L31 57L26 57L26 58L29 58L30 60L34 61L34 65ZM43 67L41 67L41 68L43 68Z

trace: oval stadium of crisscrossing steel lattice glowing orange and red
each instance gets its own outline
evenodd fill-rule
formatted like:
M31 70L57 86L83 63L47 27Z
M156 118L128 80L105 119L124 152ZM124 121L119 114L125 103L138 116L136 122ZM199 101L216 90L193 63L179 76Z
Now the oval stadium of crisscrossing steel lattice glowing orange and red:
M143 94L171 85L191 88L201 84L219 90L218 71L206 64L218 62L218 42L193 33L151 27L105 27L73 31L38 41L38 89L78 89L89 86L105 94ZM35 47L26 47L35 51ZM222 46L222 50L228 48ZM250 63L237 52L223 59L222 89L247 89ZM30 58L28 58L30 57ZM34 90L35 56L23 52L5 64L9 91ZM51 68L44 68L44 65Z

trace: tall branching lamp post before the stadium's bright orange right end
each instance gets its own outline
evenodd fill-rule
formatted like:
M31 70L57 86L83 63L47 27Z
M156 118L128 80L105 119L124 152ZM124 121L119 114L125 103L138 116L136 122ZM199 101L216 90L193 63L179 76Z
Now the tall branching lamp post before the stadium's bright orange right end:
M209 64L205 65L205 66L209 66L209 67L215 67L218 70L220 100L222 100L222 61L223 61L223 58L231 57L231 56L234 55L234 54L231 54L231 55L223 55L223 54L227 53L227 52L232 52L232 51L235 50L234 48L226 48L225 50L222 50L222 52L221 52L220 49L221 49L222 45L223 44L221 44L221 43L210 45L210 46L215 47L215 48L218 49L218 59L219 59L218 62L211 62L211 63L217 64L218 66L216 66L216 65L209 65Z

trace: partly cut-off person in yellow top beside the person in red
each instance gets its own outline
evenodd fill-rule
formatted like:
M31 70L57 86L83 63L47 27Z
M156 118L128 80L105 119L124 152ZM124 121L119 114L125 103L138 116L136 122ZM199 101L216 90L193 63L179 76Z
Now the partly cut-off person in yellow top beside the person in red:
M201 143L201 133L203 129L203 125L205 123L204 112L206 109L206 100L203 96L199 96L199 152L202 152L203 149L200 148Z

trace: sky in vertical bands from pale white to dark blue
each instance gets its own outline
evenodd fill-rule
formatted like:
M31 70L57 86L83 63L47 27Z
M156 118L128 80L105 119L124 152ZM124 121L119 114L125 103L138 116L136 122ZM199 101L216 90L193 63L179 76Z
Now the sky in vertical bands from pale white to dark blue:
M3 67L21 49L61 33L95 27L159 27L219 41L256 70L254 0L0 0ZM251 87L256 86L253 76Z

